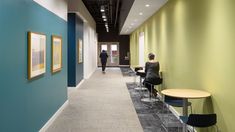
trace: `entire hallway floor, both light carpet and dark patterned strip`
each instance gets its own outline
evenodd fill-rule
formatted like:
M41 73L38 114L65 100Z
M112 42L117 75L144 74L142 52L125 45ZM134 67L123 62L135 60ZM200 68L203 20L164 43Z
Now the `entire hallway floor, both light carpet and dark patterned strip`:
M133 72L122 71L107 68L104 74L99 68L78 89L69 89L68 106L46 132L165 132L162 124L169 122L168 131L177 132L178 120L162 111L161 102L153 108L140 102L135 84L129 83Z

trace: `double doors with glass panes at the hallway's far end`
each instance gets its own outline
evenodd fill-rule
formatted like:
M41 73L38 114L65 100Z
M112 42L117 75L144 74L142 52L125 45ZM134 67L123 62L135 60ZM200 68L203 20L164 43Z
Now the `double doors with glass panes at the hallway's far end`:
M106 66L119 66L119 43L118 42L99 42L98 43L98 66L101 66L99 55L102 50L107 51L108 60Z

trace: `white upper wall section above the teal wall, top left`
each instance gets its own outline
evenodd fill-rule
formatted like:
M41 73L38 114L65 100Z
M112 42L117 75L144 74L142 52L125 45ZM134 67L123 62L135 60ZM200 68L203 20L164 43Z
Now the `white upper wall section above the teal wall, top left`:
M67 21L67 0L34 0L36 3Z

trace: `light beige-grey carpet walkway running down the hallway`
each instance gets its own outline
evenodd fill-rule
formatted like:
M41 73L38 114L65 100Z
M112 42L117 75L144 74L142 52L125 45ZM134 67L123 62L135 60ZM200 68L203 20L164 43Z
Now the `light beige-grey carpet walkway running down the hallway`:
M126 87L132 77L119 68L97 69L77 89L69 90L69 105L47 132L142 132Z

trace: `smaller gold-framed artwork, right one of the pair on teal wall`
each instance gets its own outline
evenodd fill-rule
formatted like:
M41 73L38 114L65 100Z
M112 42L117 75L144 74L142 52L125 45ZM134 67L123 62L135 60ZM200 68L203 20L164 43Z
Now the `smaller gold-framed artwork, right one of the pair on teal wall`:
M55 73L62 69L62 37L52 35L52 64L51 64L51 72Z

